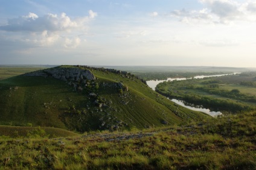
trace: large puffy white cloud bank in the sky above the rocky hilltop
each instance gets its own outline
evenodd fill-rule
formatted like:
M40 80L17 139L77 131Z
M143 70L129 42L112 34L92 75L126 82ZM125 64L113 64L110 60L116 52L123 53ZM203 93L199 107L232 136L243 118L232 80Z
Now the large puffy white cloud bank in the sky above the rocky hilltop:
M8 39L28 43L31 46L51 46L59 43L65 48L76 48L81 42L78 35L84 35L88 21L97 16L92 10L88 13L88 16L75 19L71 19L65 13L60 15L49 13L44 16L29 13L27 16L9 19L7 25L0 26L0 30L14 32Z

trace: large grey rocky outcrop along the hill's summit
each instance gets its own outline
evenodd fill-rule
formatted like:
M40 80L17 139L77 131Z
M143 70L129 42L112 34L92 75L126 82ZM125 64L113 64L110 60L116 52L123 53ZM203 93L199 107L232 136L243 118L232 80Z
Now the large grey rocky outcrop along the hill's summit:
M25 75L54 77L64 81L95 80L95 76L91 71L80 68L51 68L42 71L30 72Z

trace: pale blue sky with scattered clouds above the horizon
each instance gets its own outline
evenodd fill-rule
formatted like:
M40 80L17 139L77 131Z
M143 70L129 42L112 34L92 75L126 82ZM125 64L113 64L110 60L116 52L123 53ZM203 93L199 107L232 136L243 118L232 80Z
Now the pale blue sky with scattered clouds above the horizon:
M0 4L0 65L256 67L256 0Z

